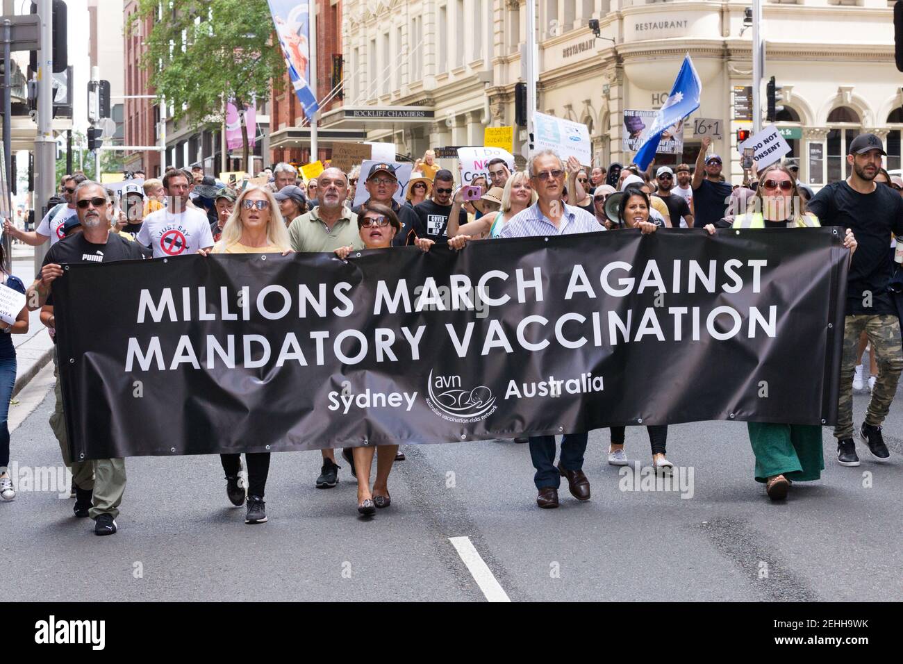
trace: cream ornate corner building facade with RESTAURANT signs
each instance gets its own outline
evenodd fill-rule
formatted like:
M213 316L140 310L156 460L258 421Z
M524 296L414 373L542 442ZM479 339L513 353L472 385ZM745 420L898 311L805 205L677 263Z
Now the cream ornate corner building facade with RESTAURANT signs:
M804 182L817 187L845 177L846 145L864 131L885 140L889 170L900 168L903 97L892 5L764 3L764 77L776 77L782 88L777 125ZM692 163L700 145L694 118L721 120L712 149L724 159L725 174L740 182L736 134L751 128L741 119L740 94L752 83L748 6L748 0L538 0L538 110L587 125L598 164L628 163L634 153L622 145L623 111L660 108L689 53L703 82L702 106L684 125L684 153L658 155L656 162ZM368 140L420 155L427 147L481 145L484 126L514 125L525 0L349 0L344 11L346 111L332 126L355 126L349 109L395 109L359 126ZM591 19L600 22L600 38ZM521 130L516 151L523 143Z

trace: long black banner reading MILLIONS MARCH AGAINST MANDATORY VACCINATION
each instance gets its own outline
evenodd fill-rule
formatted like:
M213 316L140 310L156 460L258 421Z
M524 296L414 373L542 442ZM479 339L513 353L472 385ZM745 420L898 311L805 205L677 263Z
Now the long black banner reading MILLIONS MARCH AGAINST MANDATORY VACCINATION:
M832 424L847 260L835 229L666 229L69 266L74 458Z

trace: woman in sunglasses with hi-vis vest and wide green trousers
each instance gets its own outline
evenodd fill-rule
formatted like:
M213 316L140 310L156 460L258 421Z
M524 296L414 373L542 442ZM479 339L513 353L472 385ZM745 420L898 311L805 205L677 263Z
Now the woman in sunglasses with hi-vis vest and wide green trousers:
M780 164L768 166L759 176L752 212L737 215L734 229L805 229L820 226L807 214L796 189L796 177ZM760 210L760 211L758 211ZM715 232L712 224L705 229ZM856 238L846 229L843 246L856 250ZM749 444L756 457L756 482L765 484L771 500L787 497L790 482L812 482L824 470L822 427L748 422Z

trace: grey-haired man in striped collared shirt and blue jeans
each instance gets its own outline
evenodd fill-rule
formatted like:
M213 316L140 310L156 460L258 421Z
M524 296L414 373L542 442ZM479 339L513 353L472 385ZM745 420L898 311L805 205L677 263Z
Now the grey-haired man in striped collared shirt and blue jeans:
M539 197L535 205L518 212L505 224L502 238L531 238L535 236L570 235L599 232L604 228L582 208L562 202L564 164L552 150L530 156L526 164L530 184ZM539 493L536 504L544 509L558 507L558 487L561 476L567 477L568 488L577 500L590 500L590 481L583 474L583 453L586 433L567 434L562 438L561 460L555 467L554 435L535 435L530 438L530 457L536 469L534 482Z

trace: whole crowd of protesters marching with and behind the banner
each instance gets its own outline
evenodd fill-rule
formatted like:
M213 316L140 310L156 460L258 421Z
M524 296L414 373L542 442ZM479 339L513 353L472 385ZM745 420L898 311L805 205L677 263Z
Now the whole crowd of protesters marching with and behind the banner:
M854 435L866 445L873 461L888 461L881 425L903 370L896 297L903 292L903 275L891 248L893 236L903 236L903 181L881 168L886 153L880 138L864 134L852 140L847 156L851 175L829 183L817 194L797 179L795 160L769 164L760 173L753 168L742 185L731 186L721 173L721 157L710 153L709 147L709 139L703 139L694 167L659 165L646 170L636 164L579 164L545 150L531 154L523 170L512 170L505 160L494 159L487 173L470 182L461 182L461 173L442 168L432 150L416 161L406 182L399 180L401 164L394 162L369 164L366 172L359 166L349 173L327 167L307 182L293 165L276 164L258 173L256 183L244 186L219 182L200 166L191 171L171 168L160 179L126 182L117 192L75 174L63 178L62 200L51 206L34 231L16 229L9 222L5 231L27 244L51 243L41 272L27 289L26 306L41 309L41 322L53 336L53 281L61 276L63 265L88 260L267 252L328 252L354 260L352 252L361 249L414 246L426 252L447 244L461 250L475 241L615 229L647 235L659 229L704 229L714 234L721 229L839 226L852 262L839 416L833 431L837 462L860 464ZM479 188L475 196L472 187ZM364 201L354 206L356 192L358 200L366 193ZM898 257L903 260L903 252ZM5 285L26 290L14 276L4 274L3 278ZM27 329L24 309L14 323L0 323L0 332ZM863 381L861 358L867 345L872 364L870 378ZM14 375L14 349L9 337L0 333L0 498L4 500L14 498L9 475L3 472L9 462L5 413ZM854 427L852 394L865 385L871 392L868 412L864 422ZM95 519L98 535L114 533L126 484L125 461L70 459L59 379L55 393L51 428L73 473L75 515ZM656 472L671 472L667 427L647 426L647 433L652 466ZM562 477L575 499L590 499L590 482L583 472L587 432L564 435L560 451L554 436L515 440L528 444L540 508L559 506ZM786 497L791 482L817 480L824 470L820 426L750 423L749 440L756 460L754 478L765 484L772 500ZM611 427L608 463L628 463L624 443L625 428ZM358 482L358 512L369 516L389 507L392 465L404 459L398 446L348 447L340 454ZM335 451L322 450L321 455L321 474L314 484L321 489L335 487L340 470ZM377 471L371 482L374 456ZM246 454L247 482L242 479L239 454L221 458L228 500L246 505L247 523L264 522L269 454Z

